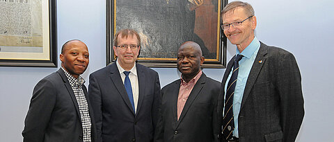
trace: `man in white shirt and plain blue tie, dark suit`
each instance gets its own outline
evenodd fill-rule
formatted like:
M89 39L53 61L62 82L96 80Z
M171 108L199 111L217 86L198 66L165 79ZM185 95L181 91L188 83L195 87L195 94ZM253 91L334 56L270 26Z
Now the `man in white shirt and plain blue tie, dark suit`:
M98 141L153 141L160 115L161 90L156 71L136 63L141 39L134 30L118 31L116 62L90 74ZM123 83L124 82L124 83Z

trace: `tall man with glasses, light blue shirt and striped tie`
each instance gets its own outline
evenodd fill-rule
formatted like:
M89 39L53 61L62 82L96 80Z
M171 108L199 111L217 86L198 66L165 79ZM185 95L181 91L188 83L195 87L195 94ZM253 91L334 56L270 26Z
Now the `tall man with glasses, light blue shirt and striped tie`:
M222 28L237 46L237 55L228 63L221 83L218 137L221 141L295 141L304 101L294 55L255 37L256 17L249 3L228 3L221 15Z

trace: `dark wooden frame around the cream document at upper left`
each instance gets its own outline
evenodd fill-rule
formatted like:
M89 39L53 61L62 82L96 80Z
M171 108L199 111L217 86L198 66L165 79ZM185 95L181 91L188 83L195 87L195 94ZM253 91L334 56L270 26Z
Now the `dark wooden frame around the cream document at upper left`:
M0 58L0 66L57 67L56 0L49 0L48 7L49 60L5 60Z

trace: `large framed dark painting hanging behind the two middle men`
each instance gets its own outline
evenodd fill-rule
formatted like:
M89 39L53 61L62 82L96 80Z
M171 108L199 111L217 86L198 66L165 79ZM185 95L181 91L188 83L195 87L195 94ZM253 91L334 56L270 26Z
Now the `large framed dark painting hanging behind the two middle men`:
M221 9L227 0L107 0L106 64L116 61L113 38L123 28L141 36L137 62L150 67L175 67L177 50L186 41L200 45L202 67L224 68L226 38Z

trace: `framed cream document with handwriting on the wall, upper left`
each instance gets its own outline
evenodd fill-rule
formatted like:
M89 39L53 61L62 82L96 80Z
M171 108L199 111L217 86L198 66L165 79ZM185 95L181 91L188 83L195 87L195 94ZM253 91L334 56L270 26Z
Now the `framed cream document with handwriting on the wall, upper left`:
M56 0L0 0L0 66L57 67Z

